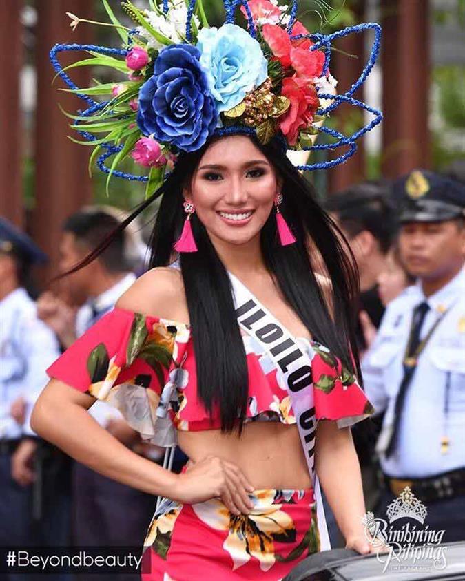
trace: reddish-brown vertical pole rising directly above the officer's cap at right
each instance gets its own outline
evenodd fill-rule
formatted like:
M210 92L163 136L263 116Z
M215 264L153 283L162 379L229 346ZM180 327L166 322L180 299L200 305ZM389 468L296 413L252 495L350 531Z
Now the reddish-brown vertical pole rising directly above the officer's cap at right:
M383 173L428 167L429 2L382 0Z

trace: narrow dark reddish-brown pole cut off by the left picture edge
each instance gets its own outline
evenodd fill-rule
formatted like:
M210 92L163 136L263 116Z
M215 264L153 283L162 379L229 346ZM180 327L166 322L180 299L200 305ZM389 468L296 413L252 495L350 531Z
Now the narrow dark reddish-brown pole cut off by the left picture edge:
M0 2L0 215L23 227L21 180L21 103L19 74L23 64L20 0Z

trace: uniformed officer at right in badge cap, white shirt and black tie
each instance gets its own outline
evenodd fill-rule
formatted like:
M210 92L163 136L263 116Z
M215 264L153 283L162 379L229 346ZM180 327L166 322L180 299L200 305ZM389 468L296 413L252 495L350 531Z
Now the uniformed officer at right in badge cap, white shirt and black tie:
M362 361L386 491L406 485L444 541L465 539L465 186L416 170L393 186L400 257L417 278L391 302Z

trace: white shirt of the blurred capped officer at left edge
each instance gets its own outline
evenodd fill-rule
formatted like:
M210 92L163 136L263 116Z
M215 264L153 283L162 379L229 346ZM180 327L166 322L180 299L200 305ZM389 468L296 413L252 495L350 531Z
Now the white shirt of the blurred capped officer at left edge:
M39 393L48 383L45 369L59 357L54 332L37 318L34 301L17 288L0 301L0 438L34 435L30 414ZM26 401L25 423L10 415L15 399Z

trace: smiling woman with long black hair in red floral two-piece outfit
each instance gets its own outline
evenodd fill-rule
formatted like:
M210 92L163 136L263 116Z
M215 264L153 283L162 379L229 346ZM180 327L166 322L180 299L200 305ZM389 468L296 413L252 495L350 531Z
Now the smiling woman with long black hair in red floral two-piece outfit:
M240 334L232 273L316 354L316 472L346 547L369 552L347 426L371 406L352 375L358 372L349 315L356 279L335 226L274 140L266 147L241 135L211 140L180 156L162 189L154 268L49 369L53 379L34 408L34 430L101 474L172 501L162 503L147 534L147 579L277 580L320 550L314 491L289 397L260 344ZM296 233L287 246L279 244L273 211L279 194ZM180 253L180 270L167 268L185 201L194 204L198 251ZM331 280L313 274L307 236ZM170 417L190 458L187 470L172 474L102 430L86 413L97 395L148 436Z

